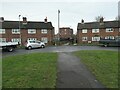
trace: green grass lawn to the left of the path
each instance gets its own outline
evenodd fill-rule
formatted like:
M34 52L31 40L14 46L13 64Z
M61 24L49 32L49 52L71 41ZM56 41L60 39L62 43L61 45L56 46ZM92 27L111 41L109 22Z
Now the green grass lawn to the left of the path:
M2 59L3 88L54 88L57 53L32 53Z

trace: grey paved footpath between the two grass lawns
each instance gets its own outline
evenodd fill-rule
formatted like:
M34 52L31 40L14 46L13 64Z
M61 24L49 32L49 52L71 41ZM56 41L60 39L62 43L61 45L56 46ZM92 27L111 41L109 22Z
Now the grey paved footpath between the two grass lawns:
M80 59L69 52L60 52L57 88L104 88Z

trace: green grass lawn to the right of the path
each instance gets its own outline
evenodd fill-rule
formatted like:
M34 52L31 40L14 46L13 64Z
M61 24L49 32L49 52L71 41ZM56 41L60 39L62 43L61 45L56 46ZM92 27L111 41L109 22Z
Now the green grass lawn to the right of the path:
M74 53L107 88L118 88L118 52L105 50Z

